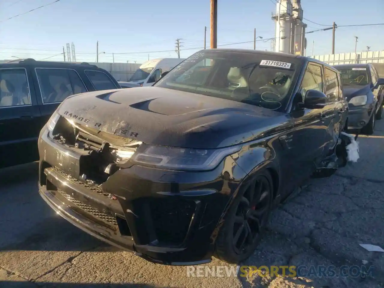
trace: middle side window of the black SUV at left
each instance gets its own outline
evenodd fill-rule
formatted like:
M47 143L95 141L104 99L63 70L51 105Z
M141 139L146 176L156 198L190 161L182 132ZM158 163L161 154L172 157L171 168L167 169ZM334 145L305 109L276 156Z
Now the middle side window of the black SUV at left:
M43 103L62 102L68 96L87 92L76 71L36 68Z

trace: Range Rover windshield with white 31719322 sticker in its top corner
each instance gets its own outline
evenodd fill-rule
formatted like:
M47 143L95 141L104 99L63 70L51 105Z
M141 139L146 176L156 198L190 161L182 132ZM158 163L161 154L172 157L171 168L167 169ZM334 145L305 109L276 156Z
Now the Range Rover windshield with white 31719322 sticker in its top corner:
M201 51L187 58L154 86L283 109L300 60L278 55Z

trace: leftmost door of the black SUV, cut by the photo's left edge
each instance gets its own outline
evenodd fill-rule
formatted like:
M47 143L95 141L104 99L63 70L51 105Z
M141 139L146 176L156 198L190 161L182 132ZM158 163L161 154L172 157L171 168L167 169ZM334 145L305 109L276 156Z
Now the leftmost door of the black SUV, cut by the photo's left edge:
M0 167L38 160L40 111L30 84L26 68L0 69Z

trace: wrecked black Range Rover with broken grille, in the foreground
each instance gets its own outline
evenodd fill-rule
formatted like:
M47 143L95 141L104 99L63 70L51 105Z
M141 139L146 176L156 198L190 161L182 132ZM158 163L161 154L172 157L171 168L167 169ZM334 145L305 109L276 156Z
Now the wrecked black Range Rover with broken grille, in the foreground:
M40 132L40 195L149 261L238 263L272 207L314 170L334 171L347 116L325 63L202 50L154 86L63 101Z

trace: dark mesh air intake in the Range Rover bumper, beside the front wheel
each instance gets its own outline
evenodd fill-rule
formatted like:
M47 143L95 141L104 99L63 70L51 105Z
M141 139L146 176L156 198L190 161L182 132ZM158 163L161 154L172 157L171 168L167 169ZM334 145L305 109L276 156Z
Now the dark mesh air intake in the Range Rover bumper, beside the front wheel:
M161 243L181 244L187 235L195 202L191 200L156 198L149 199L152 221Z

